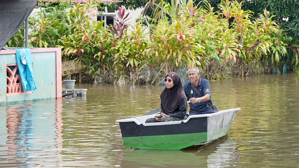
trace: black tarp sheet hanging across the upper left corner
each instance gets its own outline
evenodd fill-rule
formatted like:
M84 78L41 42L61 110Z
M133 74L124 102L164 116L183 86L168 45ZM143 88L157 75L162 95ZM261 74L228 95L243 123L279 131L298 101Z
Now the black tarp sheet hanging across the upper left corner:
M0 0L0 50L24 24L37 0Z

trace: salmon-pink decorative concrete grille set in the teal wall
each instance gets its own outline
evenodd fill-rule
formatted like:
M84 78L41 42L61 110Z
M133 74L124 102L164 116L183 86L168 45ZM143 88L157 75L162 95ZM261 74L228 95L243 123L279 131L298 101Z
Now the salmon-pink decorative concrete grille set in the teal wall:
M13 70L11 70L10 67L14 66ZM18 72L18 66L17 64L8 64L6 65L6 81L7 81L7 92L6 93L21 93L24 92L22 87L22 81L19 74L16 75L16 72Z

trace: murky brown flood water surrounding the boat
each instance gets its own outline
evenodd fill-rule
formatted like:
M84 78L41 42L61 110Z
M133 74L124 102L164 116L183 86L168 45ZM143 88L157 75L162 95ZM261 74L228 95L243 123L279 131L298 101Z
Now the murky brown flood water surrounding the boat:
M159 108L162 86L88 85L87 96L0 106L0 167L299 167L295 73L211 81L228 134L183 150L124 147L117 119ZM188 140L188 139L186 139Z

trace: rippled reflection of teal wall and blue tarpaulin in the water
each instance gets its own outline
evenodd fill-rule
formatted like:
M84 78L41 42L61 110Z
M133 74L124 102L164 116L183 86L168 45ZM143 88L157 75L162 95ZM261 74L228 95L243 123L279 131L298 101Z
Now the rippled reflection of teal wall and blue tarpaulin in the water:
M51 159L58 161L59 152L55 148L62 148L61 107L61 100L2 106L6 117L2 113L0 122L6 120L6 125L0 127L1 167L35 167L47 165Z

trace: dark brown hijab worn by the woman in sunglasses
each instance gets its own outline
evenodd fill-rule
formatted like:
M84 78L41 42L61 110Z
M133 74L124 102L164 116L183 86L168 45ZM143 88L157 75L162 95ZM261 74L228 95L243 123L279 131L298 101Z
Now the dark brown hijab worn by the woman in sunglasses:
M162 91L160 98L161 98L161 104L163 105L163 108L167 112L172 112L176 110L176 108L179 105L179 102L186 98L185 91L183 89L183 85L181 82L181 79L179 78L179 75L175 72L169 72L166 77L169 76L173 80L173 87L170 89L165 89ZM166 78L165 77L165 78Z

